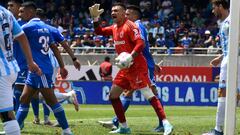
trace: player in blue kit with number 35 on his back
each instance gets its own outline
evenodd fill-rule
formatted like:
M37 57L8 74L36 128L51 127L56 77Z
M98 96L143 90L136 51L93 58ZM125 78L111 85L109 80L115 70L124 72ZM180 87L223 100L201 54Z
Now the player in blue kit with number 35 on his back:
M67 70L64 68L58 49L53 47L55 44L48 28L45 26L44 22L39 18L36 18L37 7L35 3L25 2L22 4L21 8L21 18L27 22L22 27L29 39L30 47L33 52L33 59L39 64L43 74L38 76L31 72L28 73L26 84L20 98L20 106L16 114L18 123L23 127L24 119L28 114L31 98L37 91L39 91L53 110L54 116L57 118L63 129L62 134L71 135L72 132L69 128L65 112L58 103L52 89L53 67L49 66L51 65L48 54L49 47L53 50L59 62L60 74L63 77L67 76Z

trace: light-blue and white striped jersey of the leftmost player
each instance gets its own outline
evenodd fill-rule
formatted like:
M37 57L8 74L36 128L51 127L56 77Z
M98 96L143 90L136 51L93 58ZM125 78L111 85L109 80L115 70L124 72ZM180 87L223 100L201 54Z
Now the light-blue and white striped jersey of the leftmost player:
M20 69L13 56L13 39L23 34L14 16L0 6L0 76L17 73Z

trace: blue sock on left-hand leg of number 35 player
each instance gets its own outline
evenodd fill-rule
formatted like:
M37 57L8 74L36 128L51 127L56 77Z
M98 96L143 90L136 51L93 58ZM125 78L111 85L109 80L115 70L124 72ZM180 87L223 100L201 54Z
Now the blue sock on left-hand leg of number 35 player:
M16 119L18 121L18 124L22 126L24 119L27 117L29 111L29 105L27 104L20 104L17 114L16 114Z

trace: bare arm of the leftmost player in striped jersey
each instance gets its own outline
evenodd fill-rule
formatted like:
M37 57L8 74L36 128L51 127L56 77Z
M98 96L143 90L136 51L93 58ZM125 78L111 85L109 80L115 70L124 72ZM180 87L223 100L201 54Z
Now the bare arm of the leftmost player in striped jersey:
M42 74L41 69L38 67L38 65L33 61L32 58L32 53L31 53L31 49L29 47L29 42L27 40L27 37L25 34L21 34L20 36L16 37L15 40L17 40L20 45L21 48L25 54L27 63L28 63L28 69L29 71L33 72L33 73L37 73L38 75Z

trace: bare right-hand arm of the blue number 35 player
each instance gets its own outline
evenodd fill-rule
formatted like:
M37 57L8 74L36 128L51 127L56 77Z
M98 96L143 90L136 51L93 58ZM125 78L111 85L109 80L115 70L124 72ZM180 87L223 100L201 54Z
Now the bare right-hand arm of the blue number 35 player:
M52 49L57 61L58 61L58 64L60 66L60 75L63 79L65 79L68 75L68 71L67 69L65 69L65 66L64 66L64 63L63 63L63 59L62 59L62 56L57 48L57 46L55 44L53 45L50 45L50 48Z

